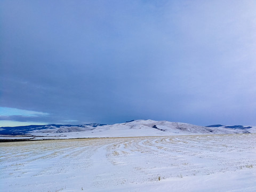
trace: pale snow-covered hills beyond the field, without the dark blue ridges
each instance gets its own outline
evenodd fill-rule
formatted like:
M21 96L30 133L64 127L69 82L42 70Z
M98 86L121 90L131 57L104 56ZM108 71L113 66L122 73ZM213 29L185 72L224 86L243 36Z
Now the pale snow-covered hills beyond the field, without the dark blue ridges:
M102 137L143 137L189 134L235 134L249 133L241 129L228 129L223 127L205 127L188 123L167 121L136 120L114 125L97 127L59 127L55 129L34 130L29 134L36 136L61 136L66 138L102 138Z

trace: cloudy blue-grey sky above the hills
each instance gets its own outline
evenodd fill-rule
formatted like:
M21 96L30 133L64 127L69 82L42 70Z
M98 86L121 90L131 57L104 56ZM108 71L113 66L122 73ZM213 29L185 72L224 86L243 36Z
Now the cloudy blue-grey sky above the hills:
M256 125L256 1L0 2L0 126Z

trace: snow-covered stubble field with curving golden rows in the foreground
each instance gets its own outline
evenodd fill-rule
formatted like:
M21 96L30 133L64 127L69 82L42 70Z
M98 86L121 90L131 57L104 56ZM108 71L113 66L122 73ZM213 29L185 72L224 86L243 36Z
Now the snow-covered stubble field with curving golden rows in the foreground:
M256 134L5 142L3 191L256 191Z

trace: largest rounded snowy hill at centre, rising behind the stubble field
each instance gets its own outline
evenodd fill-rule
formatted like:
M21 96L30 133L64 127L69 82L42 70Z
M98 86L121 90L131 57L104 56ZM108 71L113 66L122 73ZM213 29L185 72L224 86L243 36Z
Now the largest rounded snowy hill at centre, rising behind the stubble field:
M227 129L223 127L205 127L188 123L168 121L137 120L127 123L98 126L93 130L95 134L118 136L153 136L153 135L187 135L187 134L234 134L249 133L246 130Z

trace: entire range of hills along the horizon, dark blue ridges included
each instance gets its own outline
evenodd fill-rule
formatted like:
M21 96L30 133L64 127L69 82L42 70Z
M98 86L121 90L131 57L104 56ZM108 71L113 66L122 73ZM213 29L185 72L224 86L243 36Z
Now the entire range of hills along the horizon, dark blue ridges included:
M256 133L253 126L209 125L198 126L188 123L132 120L113 125L91 123L85 125L28 125L0 127L1 135L57 135L57 133L75 133L83 137L122 137L131 135L181 135L181 134L235 134ZM62 134L63 135L63 134ZM84 136L85 135L85 136ZM114 135L114 136L113 136Z

